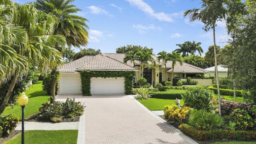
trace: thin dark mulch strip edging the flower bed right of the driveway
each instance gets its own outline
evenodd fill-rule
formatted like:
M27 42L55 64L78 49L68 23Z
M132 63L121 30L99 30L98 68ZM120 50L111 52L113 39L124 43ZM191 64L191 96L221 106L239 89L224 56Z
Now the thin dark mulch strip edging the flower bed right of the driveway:
M166 120L166 122L168 122L164 116L159 116L159 117ZM173 122L169 122L169 124L171 124L172 126L174 126L175 128L178 129L178 126L179 126L178 124L175 124ZM186 135L186 136L188 136L188 135ZM190 136L188 136L188 137L190 137ZM192 137L190 137L190 138L192 138ZM192 139L194 140L194 138L192 138ZM194 140L194 141L198 142L199 144L211 144L214 142L256 142L256 140L241 141L241 140L229 140L229 139L203 140L203 141L202 140Z

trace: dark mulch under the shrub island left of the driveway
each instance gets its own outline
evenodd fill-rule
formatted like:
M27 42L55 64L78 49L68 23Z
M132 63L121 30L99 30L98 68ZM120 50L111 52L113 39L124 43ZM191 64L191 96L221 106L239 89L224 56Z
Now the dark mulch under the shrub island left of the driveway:
M39 118L40 113L33 114L26 119L26 122L52 122L49 118ZM79 122L80 116L75 116L72 118L62 118L62 122Z

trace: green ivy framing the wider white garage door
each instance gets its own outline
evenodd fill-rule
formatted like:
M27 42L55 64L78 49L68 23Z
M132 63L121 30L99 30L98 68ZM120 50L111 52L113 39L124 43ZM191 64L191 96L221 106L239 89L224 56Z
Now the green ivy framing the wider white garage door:
M91 78L118 78L124 77L125 94L132 94L134 71L80 71L81 90L83 96L91 96Z

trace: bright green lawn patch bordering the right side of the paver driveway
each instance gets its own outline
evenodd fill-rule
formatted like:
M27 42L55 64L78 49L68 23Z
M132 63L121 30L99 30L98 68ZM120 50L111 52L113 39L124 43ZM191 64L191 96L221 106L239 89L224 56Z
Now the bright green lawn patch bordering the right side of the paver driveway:
M176 100L165 100L158 98L150 98L147 100L138 100L144 106L146 106L149 110L164 110L165 105L172 105ZM183 105L183 100L180 100L180 104Z

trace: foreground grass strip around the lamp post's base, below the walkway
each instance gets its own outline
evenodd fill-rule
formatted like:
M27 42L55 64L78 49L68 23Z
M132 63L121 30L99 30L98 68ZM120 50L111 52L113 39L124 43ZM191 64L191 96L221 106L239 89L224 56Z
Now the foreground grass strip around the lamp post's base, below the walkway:
M26 130L25 144L76 144L78 130ZM4 144L20 144L21 133Z

